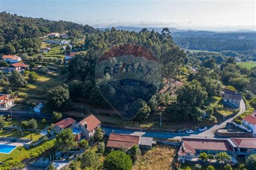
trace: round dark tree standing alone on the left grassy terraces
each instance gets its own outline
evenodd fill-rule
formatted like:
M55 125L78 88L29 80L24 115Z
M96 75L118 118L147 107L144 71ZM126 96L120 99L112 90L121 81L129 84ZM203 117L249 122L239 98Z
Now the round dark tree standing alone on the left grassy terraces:
M56 86L48 91L49 104L51 107L61 107L69 99L68 86Z

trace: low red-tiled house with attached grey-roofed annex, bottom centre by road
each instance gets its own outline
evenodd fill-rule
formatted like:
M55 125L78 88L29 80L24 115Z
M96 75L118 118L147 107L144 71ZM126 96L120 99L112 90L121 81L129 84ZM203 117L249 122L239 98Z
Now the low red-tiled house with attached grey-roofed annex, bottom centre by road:
M139 148L151 149L153 144L156 144L156 141L154 141L153 138L142 137L137 134L110 133L106 146L117 149L129 149L134 145L138 145Z

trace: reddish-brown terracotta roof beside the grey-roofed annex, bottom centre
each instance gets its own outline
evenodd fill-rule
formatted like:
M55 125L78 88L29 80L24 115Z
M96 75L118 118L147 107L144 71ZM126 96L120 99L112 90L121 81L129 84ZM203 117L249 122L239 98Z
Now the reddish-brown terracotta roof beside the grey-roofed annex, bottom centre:
M130 148L139 144L140 136L130 134L118 134L110 133L109 141L107 141L107 147L114 148Z

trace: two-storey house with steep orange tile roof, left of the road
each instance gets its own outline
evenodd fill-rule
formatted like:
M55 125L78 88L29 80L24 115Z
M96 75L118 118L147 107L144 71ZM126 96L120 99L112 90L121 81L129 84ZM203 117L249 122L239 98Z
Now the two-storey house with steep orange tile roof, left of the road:
M85 119L79 121L73 127L73 134L76 134L77 141L82 137L85 137L86 140L90 141L91 137L95 134L97 128L100 127L102 123L93 115L89 115Z

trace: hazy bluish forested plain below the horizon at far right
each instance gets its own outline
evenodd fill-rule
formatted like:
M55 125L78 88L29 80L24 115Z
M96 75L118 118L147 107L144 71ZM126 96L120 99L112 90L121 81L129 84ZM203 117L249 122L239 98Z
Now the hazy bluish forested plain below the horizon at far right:
M188 31L175 32L172 36L174 42L185 49L216 51L231 57L239 57L240 54L246 59L256 60L255 32Z

